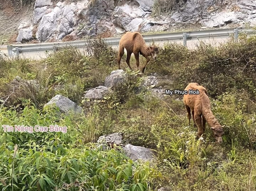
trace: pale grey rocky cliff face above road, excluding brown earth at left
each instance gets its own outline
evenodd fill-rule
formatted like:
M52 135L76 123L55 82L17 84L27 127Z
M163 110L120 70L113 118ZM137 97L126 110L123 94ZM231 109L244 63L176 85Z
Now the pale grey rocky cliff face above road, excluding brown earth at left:
M187 0L172 12L152 15L153 0L36 0L31 20L19 28L18 42L109 37L125 31L170 30L178 24L221 27L256 24L256 0Z

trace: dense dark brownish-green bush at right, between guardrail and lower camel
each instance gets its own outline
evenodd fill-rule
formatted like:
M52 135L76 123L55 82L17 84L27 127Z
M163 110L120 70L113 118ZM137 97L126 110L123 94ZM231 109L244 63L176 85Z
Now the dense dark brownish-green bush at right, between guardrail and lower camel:
M181 62L178 69L174 69L175 88L183 89L189 82L197 82L213 97L230 88L244 89L255 97L255 50L255 36L240 37L239 43L230 41L218 47L201 44L188 57L184 56L183 64Z

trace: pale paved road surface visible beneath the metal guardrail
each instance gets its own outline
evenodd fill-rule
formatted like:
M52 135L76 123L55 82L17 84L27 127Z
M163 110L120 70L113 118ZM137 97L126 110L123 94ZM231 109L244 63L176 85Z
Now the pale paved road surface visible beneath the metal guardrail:
M209 43L209 44L213 44L213 45L218 45L219 43L224 43L228 40L228 38L225 37L221 37L221 38L206 38L206 39L202 39L201 41ZM179 41L170 41L170 42L176 42L178 44L183 44L183 40L179 40ZM158 42L156 43L159 46L162 46L164 44L164 42ZM199 41L197 39L193 39L193 40L188 40L187 41L187 47L189 49L195 49L196 45L199 44ZM118 49L118 46L114 46L113 48ZM2 45L0 46L0 50L4 53L7 54L7 46L6 45ZM81 51L83 51L83 49L80 49ZM51 51L49 51L50 53ZM47 54L45 53L45 51L38 51L38 52L32 52L32 53L22 53L20 54L20 57L23 58L32 58L32 59L36 59L36 60L40 60L42 58L46 58Z

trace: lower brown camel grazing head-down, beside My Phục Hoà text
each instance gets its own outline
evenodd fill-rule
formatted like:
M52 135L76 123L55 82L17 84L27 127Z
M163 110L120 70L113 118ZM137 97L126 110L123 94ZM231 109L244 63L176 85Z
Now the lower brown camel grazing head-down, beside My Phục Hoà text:
M189 89L199 90L199 94L189 94ZM185 90L188 91L188 94L184 94L183 102L188 112L189 125L191 118L190 110L192 110L193 120L198 127L198 136L201 137L204 133L207 122L214 132L215 139L222 143L223 128L211 112L211 104L206 88L199 86L197 83L189 83Z

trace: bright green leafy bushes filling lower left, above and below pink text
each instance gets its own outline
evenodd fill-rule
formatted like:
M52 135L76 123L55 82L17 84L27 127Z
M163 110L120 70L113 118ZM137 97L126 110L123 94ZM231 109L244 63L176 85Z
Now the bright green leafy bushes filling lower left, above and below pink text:
M148 164L133 163L114 149L102 151L86 144L107 131L101 128L107 121L96 107L87 116L56 115L58 110L48 109L39 111L30 102L20 113L15 108L0 109L1 126L67 126L66 133L4 132L1 128L1 190L146 191L153 186L158 174Z

